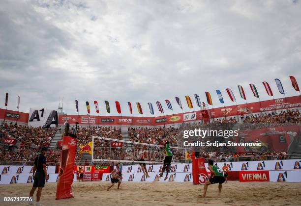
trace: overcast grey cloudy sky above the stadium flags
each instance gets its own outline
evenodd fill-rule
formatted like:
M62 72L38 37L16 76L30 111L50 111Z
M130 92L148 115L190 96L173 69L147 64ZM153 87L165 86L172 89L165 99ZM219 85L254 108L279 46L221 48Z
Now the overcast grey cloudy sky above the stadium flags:
M226 88L238 103L269 100L262 81L275 98L282 98L274 78L282 81L286 96L299 95L289 76L301 84L301 2L298 0L2 0L0 7L0 108L9 93L8 109L30 107L63 109L76 114L107 115L104 100L123 115L127 102L142 104L169 99L180 112L185 95L205 102L211 92L214 107L231 105Z

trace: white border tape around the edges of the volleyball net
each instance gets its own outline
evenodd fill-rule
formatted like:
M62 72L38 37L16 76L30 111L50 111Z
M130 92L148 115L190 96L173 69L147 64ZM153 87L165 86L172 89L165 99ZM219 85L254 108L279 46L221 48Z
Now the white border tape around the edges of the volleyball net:
M112 141L112 142L123 142L126 144L130 145L140 145L140 146L149 146L153 148L164 148L163 145L157 145L157 144L149 144L149 143L142 143L142 142L133 142L133 141L127 141L127 140L120 140L120 139L112 139L112 138L107 138L107 137L101 137L101 136L92 136L92 162L128 162L128 163L146 163L146 164L163 164L163 159L162 161L138 161L138 160L125 160L125 159L99 159L99 158L94 158L94 140L105 140L105 141ZM123 146L125 147L125 146ZM170 146L171 149L174 150L181 150L183 153L186 153L187 148L182 148L182 147L173 147ZM184 155L185 156L185 155ZM164 156L163 156L164 157ZM176 164L179 162L172 162L172 164Z

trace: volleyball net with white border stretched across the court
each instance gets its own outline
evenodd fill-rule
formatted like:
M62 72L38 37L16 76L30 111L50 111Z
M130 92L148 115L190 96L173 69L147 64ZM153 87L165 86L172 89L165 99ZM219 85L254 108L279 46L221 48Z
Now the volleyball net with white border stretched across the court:
M153 144L155 143L155 144ZM92 162L163 164L163 145L92 136ZM185 162L186 148L171 146L173 163ZM143 157L143 160L142 159Z

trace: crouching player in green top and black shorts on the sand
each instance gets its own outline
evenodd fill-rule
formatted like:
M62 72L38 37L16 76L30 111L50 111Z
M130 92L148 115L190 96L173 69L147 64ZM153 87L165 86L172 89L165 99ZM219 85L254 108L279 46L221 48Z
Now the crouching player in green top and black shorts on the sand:
M222 183L224 183L224 181L225 181L222 171L219 169L219 167L213 165L213 160L210 159L208 161L208 164L209 164L208 169L211 172L211 178L205 182L204 194L203 194L204 198L206 197L208 185L215 184L215 183L218 183L218 196L220 196Z

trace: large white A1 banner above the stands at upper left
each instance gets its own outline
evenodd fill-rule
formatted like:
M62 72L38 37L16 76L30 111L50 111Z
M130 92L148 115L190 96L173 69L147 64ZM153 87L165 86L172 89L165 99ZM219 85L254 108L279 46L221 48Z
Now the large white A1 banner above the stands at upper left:
M28 126L32 127L56 127L58 126L59 114L56 110L45 108L30 108Z

